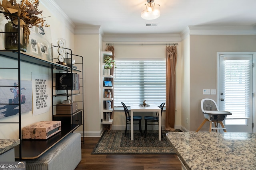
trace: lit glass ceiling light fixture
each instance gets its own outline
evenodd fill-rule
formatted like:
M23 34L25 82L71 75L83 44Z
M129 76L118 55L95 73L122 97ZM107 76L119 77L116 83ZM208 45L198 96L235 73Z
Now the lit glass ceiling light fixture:
M148 4L142 7L141 18L145 20L154 20L160 16L160 5L155 4L154 0L147 0ZM145 9L146 6L146 9Z

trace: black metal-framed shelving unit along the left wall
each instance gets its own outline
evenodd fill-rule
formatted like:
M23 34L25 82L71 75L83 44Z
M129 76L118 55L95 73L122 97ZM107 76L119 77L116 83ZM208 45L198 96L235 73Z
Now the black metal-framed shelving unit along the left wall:
M6 14L6 15L13 15L13 14L9 14L6 12L2 12L0 11L0 14ZM13 15L16 16L16 15ZM18 16L16 16L18 18ZM18 20L18 25L20 25L19 20ZM20 30L19 26L18 26L18 30ZM0 33L10 33L10 32L0 32ZM80 86L80 88L82 89L82 93L80 95L83 96L84 93L84 89L83 89L83 57L79 56L81 58L81 63L77 63L77 64L81 64L82 66L82 70L78 70L76 68L72 68L69 66L65 66L62 64L58 64L55 63L53 61L47 61L47 60L43 60L40 57L34 57L32 55L28 55L24 52L20 51L20 31L18 32L11 32L11 33L16 33L18 35L18 50L0 50L0 57L4 57L4 58L8 58L11 59L12 61L17 63L17 66L15 67L1 67L1 69L8 69L8 70L18 70L18 84L21 84L21 66L20 63L21 62L25 62L25 63L30 63L30 64L34 64L34 65L38 65L38 66L43 66L46 68L51 69L52 72L52 80L53 80L53 71L54 70L62 70L62 71L66 71L66 72L81 72L81 80L82 81L82 85ZM70 49L69 49L70 50ZM71 51L71 50L70 50ZM74 55L72 54L72 51L70 53L67 53L67 55L71 55L71 57L73 56L78 56L78 55ZM53 81L52 81L53 82ZM0 87L13 87L10 86L8 84L1 84ZM20 88L20 86L18 86ZM53 87L53 84L52 84ZM53 88L52 88L53 89ZM53 94L53 90L52 90L52 94ZM75 94L73 94L73 92L71 91L71 96L74 96ZM56 97L56 95L52 95L52 98ZM65 94L65 97L69 97L69 94ZM27 140L27 139L22 139L22 127L21 127L21 122L22 122L22 115L21 115L21 96L20 93L18 94L18 104L9 104L9 103L0 103L1 105L17 105L18 106L18 121L14 121L14 122L0 122L0 124L5 123L5 124L18 124L18 129L19 129L19 139L20 139L20 145L18 145L18 149L15 149L15 158L16 161L19 160L26 160L26 159L31 159L31 158L35 158L34 154L31 153L36 153L39 156L46 152L46 150L48 150L49 148L53 147L56 143L58 143L62 138L64 138L66 135L68 135L68 133L72 133L74 132L80 125L83 126L83 134L84 134L84 98L82 97L82 101L79 101L81 103L81 108L79 109L79 113L81 114L81 122L80 124L76 124L76 123L72 123L72 121L69 124L66 124L65 126L62 126L62 131L61 133L58 133L57 135L55 135L54 137L49 138L48 140ZM53 106L54 107L54 106ZM53 108L52 107L52 108ZM54 119L54 111L52 110L52 119ZM84 135L83 135L84 136ZM82 141L84 143L84 140Z

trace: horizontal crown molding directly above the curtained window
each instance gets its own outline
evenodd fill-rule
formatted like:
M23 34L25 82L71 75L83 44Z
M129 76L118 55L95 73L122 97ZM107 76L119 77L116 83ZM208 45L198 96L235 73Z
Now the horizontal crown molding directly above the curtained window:
M104 34L102 40L111 42L177 42L181 39L179 34Z

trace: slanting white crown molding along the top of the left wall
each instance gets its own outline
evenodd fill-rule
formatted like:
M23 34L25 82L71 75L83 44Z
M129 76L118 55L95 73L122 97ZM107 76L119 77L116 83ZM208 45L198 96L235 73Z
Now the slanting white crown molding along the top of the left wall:
M54 14L56 18L65 23L65 25L74 33L75 24L68 18L68 16L60 9L60 7L53 0L40 0L40 3Z

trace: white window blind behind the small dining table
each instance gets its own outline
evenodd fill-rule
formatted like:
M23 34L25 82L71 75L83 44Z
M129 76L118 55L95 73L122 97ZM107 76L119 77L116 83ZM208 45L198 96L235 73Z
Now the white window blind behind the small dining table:
M116 61L114 106L160 105L166 100L166 61Z

